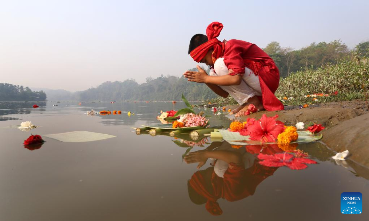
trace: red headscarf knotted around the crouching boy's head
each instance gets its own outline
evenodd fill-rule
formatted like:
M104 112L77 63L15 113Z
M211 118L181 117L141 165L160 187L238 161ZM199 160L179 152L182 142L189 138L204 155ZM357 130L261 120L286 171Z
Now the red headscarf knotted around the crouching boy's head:
M211 59L213 59L213 63L217 60L218 57L221 57L224 52L224 43L219 41L217 37L223 29L223 24L217 21L214 21L206 28L206 35L208 37L208 41L195 48L190 52L191 57L196 62L200 62L208 52L208 50L213 47L214 51L211 54Z

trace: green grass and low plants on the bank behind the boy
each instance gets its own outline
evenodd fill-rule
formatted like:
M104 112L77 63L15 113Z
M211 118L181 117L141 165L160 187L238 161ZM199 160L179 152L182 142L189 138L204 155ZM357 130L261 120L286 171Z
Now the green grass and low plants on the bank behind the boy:
M337 95L334 92L338 91ZM317 69L303 68L286 78L281 78L275 95L285 105L325 103L334 101L365 100L369 92L369 59L353 55L337 64L326 64ZM312 94L328 94L328 97L305 97ZM237 104L231 98L217 97L207 102L217 105Z

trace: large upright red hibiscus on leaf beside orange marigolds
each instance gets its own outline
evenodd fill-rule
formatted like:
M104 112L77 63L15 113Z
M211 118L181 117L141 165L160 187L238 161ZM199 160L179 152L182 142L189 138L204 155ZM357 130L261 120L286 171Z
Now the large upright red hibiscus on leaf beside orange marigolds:
M284 131L282 124L276 122L276 118L267 117L265 114L260 118L260 120L255 121L252 125L247 127L250 132L250 140L260 140L261 143L274 142L278 134Z

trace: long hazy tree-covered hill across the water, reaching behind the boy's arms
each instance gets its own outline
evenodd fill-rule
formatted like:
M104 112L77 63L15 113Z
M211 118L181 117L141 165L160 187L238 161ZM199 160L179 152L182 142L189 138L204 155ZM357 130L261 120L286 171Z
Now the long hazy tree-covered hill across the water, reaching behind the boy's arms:
M75 97L79 101L178 101L182 93L189 101L204 101L216 97L206 84L174 76L148 78L143 84L138 84L134 79L123 82L107 81L96 88L76 92Z

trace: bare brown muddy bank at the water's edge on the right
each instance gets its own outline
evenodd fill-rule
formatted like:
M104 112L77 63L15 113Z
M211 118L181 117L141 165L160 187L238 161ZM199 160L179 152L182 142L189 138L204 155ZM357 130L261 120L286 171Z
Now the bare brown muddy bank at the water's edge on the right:
M226 108L232 109L235 106ZM264 113L267 116L279 115L278 119L286 125L297 122L323 124L326 129L322 132L322 141L328 147L337 152L349 150L350 160L369 168L369 114L365 102L332 102L303 109L299 109L299 106L285 106L283 111L261 111L237 119L242 122L248 117L259 118Z

